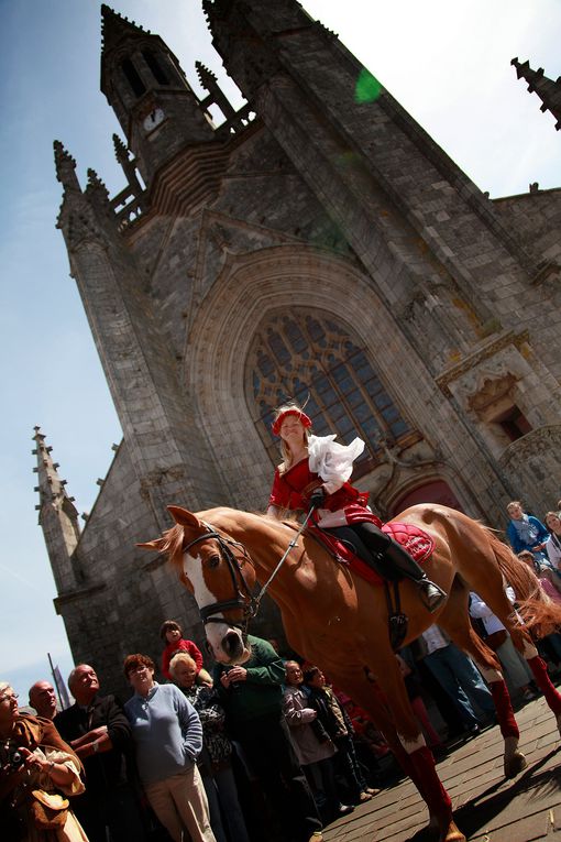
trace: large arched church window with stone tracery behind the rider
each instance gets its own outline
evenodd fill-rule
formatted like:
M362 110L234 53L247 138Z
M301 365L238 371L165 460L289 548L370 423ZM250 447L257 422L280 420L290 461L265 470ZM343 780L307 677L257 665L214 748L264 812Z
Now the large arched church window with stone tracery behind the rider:
M344 442L355 436L364 439L354 477L377 463L382 437L389 445L417 438L367 351L342 325L317 310L288 309L260 327L249 367L256 426L273 462L278 461L278 441L271 433L273 411L288 398L306 403L318 436L337 433Z

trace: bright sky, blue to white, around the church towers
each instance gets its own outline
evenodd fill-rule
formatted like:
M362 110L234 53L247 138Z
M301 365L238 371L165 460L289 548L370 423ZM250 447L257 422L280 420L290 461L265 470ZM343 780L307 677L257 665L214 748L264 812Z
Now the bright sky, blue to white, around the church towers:
M510 58L561 75L559 0L305 0L433 139L493 197L561 184L561 132L517 81ZM196 59L231 97L199 0L122 0L116 11L158 33L197 89ZM31 455L41 425L80 512L121 438L63 238L53 140L86 182L95 168L124 186L99 91L100 4L0 0L0 371L3 505L0 526L0 678L20 693L47 676L47 652L72 667L41 529ZM238 100L239 101L239 100ZM173 501L170 501L173 502Z

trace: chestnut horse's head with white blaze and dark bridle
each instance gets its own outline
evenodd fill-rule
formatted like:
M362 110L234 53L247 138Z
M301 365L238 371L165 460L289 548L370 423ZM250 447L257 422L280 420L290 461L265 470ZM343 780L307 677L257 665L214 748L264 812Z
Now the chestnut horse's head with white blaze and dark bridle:
M243 664L251 654L246 639L255 571L243 547L179 506L168 506L175 526L161 538L139 544L165 553L180 581L194 594L205 623L210 652L222 664Z

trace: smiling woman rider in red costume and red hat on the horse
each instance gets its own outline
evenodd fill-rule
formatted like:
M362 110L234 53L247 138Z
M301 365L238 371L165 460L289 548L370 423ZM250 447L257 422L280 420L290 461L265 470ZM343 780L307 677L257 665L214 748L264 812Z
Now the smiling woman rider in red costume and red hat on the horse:
M436 611L446 593L409 553L382 532L381 520L367 506L369 494L349 482L364 441L355 438L350 445L339 445L334 436L314 436L310 428L311 419L297 404L276 409L273 433L280 437L283 461L275 469L267 514L280 518L287 509L314 509L317 527L350 545L378 576L392 581L410 579L425 606Z

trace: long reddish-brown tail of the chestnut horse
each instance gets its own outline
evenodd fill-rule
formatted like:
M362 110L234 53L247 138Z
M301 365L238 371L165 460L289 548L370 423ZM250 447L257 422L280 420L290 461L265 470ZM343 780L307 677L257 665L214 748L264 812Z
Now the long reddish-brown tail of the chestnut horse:
M527 564L520 561L491 531L487 533L501 572L515 592L518 611L527 628L537 637L557 632L561 625L561 603L548 597Z

